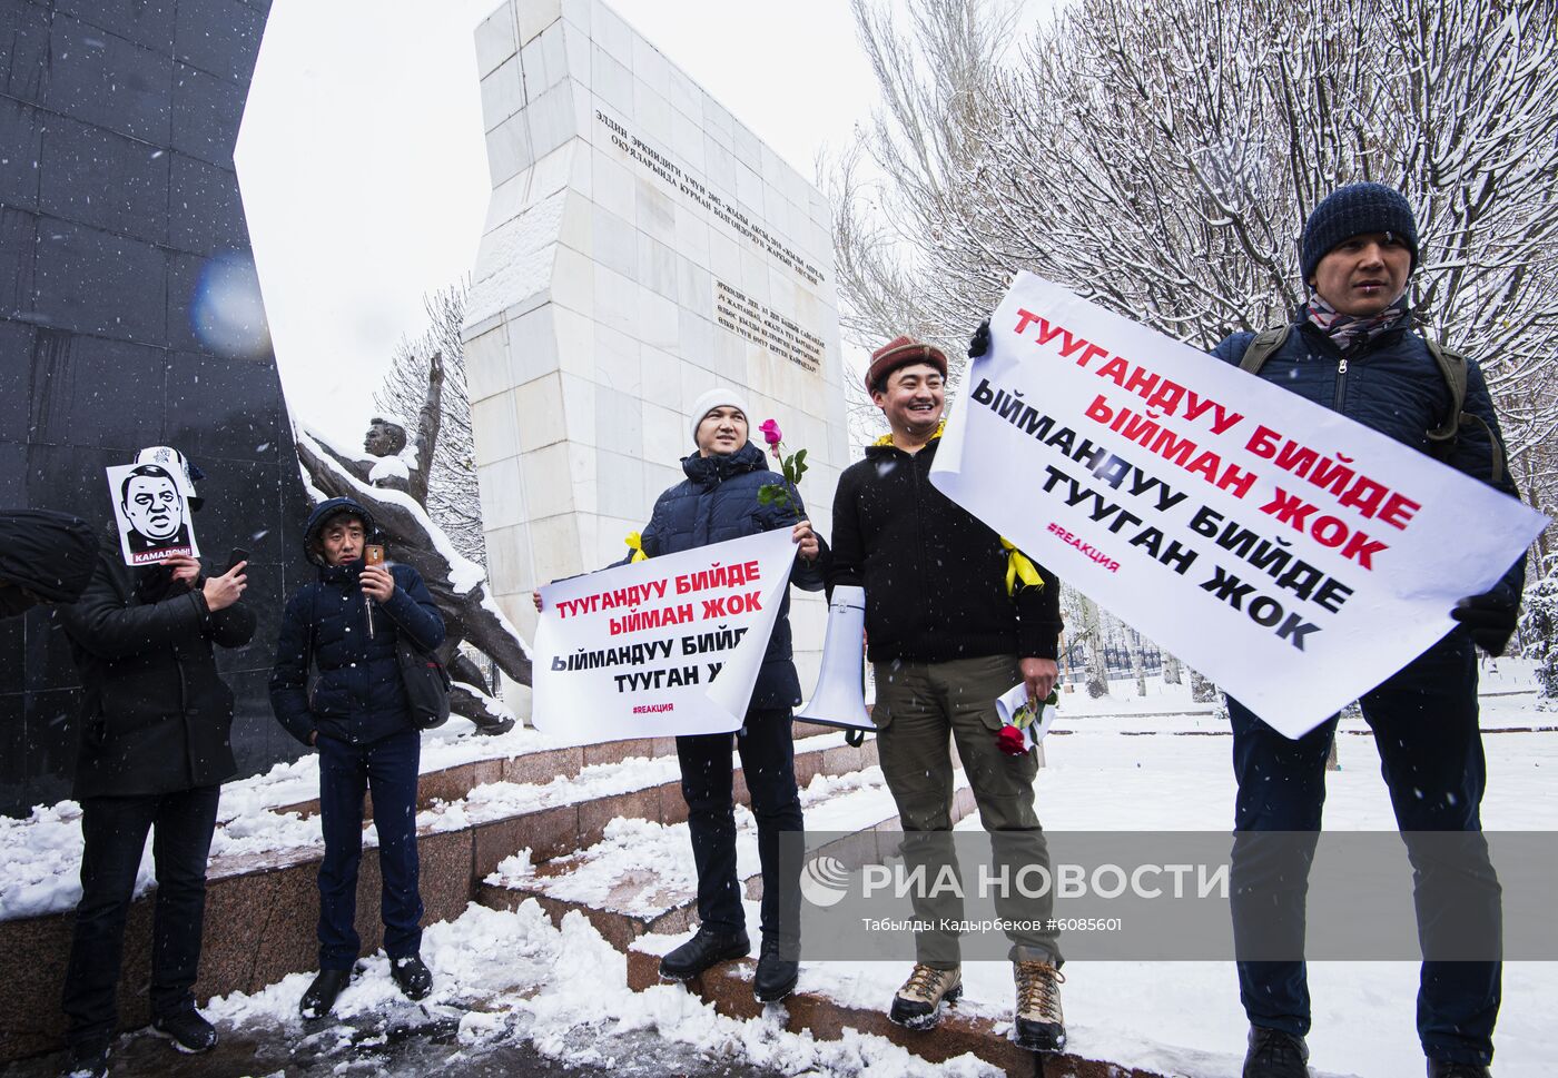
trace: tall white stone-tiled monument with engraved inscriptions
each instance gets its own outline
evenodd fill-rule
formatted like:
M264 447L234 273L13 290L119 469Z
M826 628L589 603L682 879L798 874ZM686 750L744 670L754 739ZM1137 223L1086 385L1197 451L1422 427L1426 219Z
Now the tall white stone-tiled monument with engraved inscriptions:
M466 315L489 580L530 592L626 553L718 383L807 449L824 533L848 464L826 199L600 0L477 30L492 201ZM810 690L826 606L793 594Z

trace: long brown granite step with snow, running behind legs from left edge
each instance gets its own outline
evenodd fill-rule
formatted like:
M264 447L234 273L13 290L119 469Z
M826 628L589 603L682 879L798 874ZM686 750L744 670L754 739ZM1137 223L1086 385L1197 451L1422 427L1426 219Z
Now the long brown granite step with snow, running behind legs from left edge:
M874 742L849 746L841 731L810 723L798 724L796 735L801 738L796 743L799 782L809 784L816 774L848 774L876 763ZM592 746L603 756L594 757L600 759L598 763L586 763L584 749L575 746L460 765L477 768L474 774L489 774L480 768L508 768L523 760L519 766L533 768L530 774L539 782L481 782L456 801L435 801L418 813L424 924L450 921L464 913L477 885L499 861L520 849L531 849L538 860L570 854L598 843L606 824L617 816L662 824L686 821L675 742L625 745L640 751L647 745L650 751L671 754L662 751L661 756L620 759L617 754L633 748ZM738 760L735 788L737 796L745 796ZM277 837L265 833L265 821L248 819L245 823L256 826L259 833L229 835L229 849L238 852L212 858L201 975L195 986L201 1002L234 991L257 992L288 974L318 967L315 924L319 899L315 877L323 855L318 824L296 816L288 819L273 810L262 810L257 816L282 824L282 838L291 844L284 843L277 849ZM232 830L231 823L227 830ZM241 852L246 841L252 841L257 852ZM372 953L383 941L380 886L377 837L369 832L357 880L355 927L365 953ZM145 894L129 910L118 995L122 1028L137 1028L151 1019L148 997L137 988L151 975L151 899ZM59 995L72 922L73 911L0 921L0 953L6 955L8 967L6 983L0 988L0 1064L61 1045L65 1023Z

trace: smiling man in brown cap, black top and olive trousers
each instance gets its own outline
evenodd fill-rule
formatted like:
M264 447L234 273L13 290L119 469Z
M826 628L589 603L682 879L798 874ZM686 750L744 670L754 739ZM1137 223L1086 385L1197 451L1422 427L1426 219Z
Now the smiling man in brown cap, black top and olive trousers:
M1049 866L1033 810L1038 749L1006 756L996 742L996 699L1025 682L1044 699L1055 687L1059 581L1038 569L1036 584L1008 584L1008 565L1031 562L988 525L930 484L941 436L947 358L932 344L899 336L877 349L866 372L871 400L891 433L838 478L834 498L834 586L865 589L868 657L876 668L872 720L882 771L904 824L902 854L925 879L952 855L949 737L974 788L997 863L1013 871ZM1024 573L1031 576L1030 573ZM963 992L958 933L961 900L913 896L916 964L890 1017L929 1028L943 1000ZM1049 900L996 900L1005 921L1039 922ZM1035 1050L1066 1044L1055 933L1011 928L1017 981L1017 1042Z

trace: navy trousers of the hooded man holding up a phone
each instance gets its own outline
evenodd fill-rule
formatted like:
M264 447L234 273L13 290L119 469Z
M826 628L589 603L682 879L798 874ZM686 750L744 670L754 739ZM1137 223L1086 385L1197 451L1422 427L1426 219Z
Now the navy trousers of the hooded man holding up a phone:
M379 907L385 952L405 958L422 947L422 894L418 890L416 776L421 734L407 727L369 745L319 737L319 969L351 969L357 936L357 865L363 857L363 794L374 794L379 829Z

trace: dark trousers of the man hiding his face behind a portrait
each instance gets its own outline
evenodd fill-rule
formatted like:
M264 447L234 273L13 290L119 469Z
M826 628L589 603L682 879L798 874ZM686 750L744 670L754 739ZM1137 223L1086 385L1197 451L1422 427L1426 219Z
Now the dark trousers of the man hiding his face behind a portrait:
M118 1025L117 988L125 918L136 872L153 832L157 897L151 924L151 1011L156 1017L195 1006L206 858L217 827L221 787L81 802L81 902L76 904L64 1011L73 1045L103 1044Z

